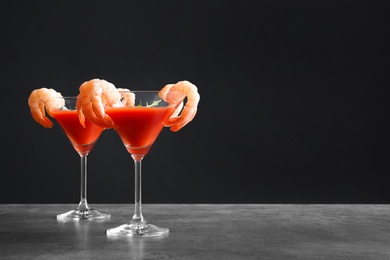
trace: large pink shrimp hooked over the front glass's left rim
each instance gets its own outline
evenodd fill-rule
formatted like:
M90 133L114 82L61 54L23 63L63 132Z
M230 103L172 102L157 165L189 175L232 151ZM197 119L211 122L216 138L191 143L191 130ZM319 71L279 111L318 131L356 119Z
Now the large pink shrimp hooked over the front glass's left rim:
M77 111L80 123L85 126L85 118L103 128L112 128L114 122L104 112L105 106L117 106L121 94L114 84L104 79L92 79L81 84L77 96Z

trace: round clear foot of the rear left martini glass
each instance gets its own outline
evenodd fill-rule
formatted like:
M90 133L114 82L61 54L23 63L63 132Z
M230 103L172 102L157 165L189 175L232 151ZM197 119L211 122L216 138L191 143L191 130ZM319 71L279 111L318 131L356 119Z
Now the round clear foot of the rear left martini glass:
M107 220L111 218L111 214L100 212L95 209L71 210L57 215L57 220L60 222L68 221L91 221L91 220Z

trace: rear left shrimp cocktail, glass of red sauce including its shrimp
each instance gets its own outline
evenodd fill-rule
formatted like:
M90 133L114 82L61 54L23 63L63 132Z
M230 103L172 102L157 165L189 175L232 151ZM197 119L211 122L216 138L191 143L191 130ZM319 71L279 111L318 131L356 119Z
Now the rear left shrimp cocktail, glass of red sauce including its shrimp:
M81 160L81 199L76 209L57 215L61 222L74 220L105 220L110 214L89 207L87 202L87 156L100 137L103 127L90 120L80 122L76 108L77 96L63 97L54 89L41 88L34 90L28 100L33 118L46 128L52 128L53 122L45 112L54 118L62 127Z

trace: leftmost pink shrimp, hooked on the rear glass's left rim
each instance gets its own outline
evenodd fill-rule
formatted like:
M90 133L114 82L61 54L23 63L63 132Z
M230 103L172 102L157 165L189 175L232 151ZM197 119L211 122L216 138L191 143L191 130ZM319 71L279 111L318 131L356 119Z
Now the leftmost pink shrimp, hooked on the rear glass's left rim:
M62 98L45 100L49 97L62 97L62 95L52 88L40 88L33 90L28 97L28 105L32 117L46 128L52 128L53 122L46 117L45 110L47 109L47 112L50 114L51 109L59 109L65 104L65 101Z

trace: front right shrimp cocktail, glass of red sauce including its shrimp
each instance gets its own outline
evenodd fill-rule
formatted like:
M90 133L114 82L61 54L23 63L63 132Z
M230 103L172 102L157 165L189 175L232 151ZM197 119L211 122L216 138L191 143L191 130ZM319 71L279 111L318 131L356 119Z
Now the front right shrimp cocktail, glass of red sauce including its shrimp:
M166 85L160 91L113 90L100 86L100 80L93 81L95 88L88 92L89 98L84 99L90 102L78 109L86 119L104 128L115 129L135 166L134 215L128 223L108 229L107 236L149 237L167 234L169 229L148 223L142 215L141 161L164 126L176 132L194 118L200 99L197 88L188 81L180 81Z

